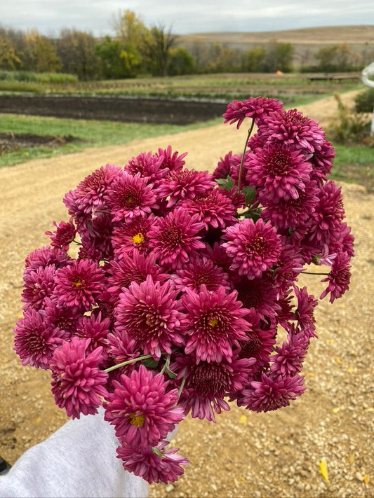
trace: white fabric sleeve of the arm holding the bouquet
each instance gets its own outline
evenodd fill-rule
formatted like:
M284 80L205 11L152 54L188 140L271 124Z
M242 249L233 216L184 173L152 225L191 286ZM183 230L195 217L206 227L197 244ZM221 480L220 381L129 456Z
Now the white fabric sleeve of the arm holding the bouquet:
M0 497L144 498L148 484L116 458L114 428L98 415L70 420L0 475Z

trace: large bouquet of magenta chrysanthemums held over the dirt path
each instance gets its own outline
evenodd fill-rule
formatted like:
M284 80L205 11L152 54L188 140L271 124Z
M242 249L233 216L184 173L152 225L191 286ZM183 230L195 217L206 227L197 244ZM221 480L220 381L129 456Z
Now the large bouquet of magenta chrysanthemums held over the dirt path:
M213 174L171 146L102 166L25 261L15 352L51 371L69 417L103 406L117 457L149 483L183 473L166 436L188 413L214 422L229 402L266 412L300 396L318 301L298 276L326 266L331 302L349 286L353 237L321 127L263 97L223 116L249 120L243 153Z

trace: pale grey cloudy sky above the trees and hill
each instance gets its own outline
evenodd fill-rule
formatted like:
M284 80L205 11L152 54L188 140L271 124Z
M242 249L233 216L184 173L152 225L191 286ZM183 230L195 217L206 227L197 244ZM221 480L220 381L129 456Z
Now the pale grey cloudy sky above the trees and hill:
M125 9L175 34L374 24L373 0L1 0L0 24L51 36L62 28L112 35Z

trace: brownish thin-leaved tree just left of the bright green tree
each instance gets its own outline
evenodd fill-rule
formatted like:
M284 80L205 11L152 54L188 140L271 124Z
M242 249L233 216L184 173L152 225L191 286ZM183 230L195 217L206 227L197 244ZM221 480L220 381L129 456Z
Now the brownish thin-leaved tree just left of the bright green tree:
M62 71L76 74L80 80L96 78L100 73L100 60L95 50L96 40L88 33L75 29L62 29L56 41Z

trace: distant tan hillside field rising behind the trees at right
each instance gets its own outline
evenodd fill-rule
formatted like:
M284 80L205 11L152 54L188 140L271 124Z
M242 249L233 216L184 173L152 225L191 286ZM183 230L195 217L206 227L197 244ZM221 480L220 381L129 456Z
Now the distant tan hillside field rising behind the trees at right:
M196 43L220 43L229 48L249 50L272 41L291 43L295 48L295 64L313 64L314 53L319 48L346 43L363 62L374 60L374 25L330 26L303 29L285 29L267 32L195 33L178 35L178 44L192 50Z

